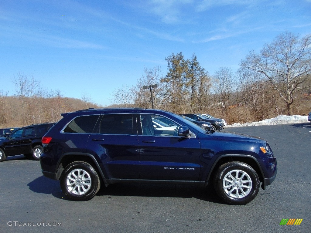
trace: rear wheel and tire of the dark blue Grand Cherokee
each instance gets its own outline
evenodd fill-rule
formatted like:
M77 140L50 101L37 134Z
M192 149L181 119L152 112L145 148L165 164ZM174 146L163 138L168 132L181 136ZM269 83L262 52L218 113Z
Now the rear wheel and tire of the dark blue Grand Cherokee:
M67 198L87 201L100 189L100 179L89 163L76 161L65 167L60 178L60 186Z

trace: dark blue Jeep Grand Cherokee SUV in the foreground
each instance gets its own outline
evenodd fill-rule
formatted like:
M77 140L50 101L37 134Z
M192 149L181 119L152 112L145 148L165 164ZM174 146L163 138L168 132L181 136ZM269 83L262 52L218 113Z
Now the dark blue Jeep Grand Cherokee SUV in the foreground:
M44 176L60 180L68 199L89 200L100 185L212 183L227 203L246 204L276 177L276 158L264 139L206 131L157 109L86 109L61 114L42 138ZM152 118L175 130L155 130Z

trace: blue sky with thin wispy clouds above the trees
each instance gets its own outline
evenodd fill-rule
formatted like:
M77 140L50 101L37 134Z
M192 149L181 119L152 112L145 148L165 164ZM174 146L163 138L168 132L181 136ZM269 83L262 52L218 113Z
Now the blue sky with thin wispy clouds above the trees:
M0 90L15 94L18 72L64 96L135 85L144 67L167 71L165 57L194 52L213 75L234 71L288 30L311 33L311 0L82 0L0 2Z

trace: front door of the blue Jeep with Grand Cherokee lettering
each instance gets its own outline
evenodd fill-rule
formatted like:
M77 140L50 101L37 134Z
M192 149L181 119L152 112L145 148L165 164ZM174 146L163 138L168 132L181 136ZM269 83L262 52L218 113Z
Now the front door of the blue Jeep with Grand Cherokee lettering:
M177 129L176 131L157 131L152 126L152 118L160 117L164 116L140 114L138 121L141 166L139 178L198 180L201 167L201 148L198 138L195 134L190 138L179 137ZM178 125L177 128L180 126L177 123L176 125Z

